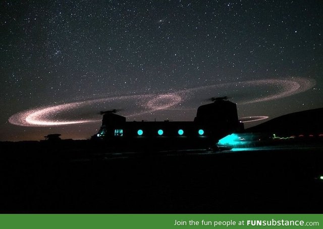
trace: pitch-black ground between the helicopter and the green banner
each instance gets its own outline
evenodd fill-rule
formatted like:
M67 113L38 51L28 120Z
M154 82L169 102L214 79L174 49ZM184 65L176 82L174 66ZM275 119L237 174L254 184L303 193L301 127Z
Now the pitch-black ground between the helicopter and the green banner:
M323 144L220 152L0 145L1 213L322 213Z

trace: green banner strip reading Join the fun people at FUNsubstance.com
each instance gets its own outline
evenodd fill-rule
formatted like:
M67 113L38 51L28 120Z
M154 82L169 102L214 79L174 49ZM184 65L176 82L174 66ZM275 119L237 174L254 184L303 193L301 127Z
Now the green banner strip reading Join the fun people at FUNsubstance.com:
M0 228L322 228L322 221L323 214L2 214Z

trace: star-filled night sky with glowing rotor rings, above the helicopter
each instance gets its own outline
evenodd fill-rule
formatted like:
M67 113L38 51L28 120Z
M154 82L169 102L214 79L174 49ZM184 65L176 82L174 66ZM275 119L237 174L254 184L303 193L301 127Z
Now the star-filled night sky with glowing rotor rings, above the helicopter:
M218 96L240 118L323 107L320 0L2 1L0 16L1 141L86 139L109 109L192 121Z

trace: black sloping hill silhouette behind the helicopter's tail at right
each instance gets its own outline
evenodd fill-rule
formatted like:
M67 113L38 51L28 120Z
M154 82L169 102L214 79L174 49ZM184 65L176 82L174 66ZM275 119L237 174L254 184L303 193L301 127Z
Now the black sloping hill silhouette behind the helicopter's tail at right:
M257 126L250 127L245 131L290 134L323 133L323 108L283 115Z

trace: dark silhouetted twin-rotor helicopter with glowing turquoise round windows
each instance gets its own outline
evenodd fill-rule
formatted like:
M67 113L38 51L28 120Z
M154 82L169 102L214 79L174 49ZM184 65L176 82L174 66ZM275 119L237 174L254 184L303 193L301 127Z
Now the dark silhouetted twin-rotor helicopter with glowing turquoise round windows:
M101 111L102 125L92 139L133 150L214 148L219 139L244 127L235 103L227 97L211 101L198 107L193 121L127 121L116 109Z

